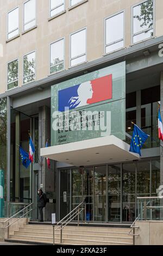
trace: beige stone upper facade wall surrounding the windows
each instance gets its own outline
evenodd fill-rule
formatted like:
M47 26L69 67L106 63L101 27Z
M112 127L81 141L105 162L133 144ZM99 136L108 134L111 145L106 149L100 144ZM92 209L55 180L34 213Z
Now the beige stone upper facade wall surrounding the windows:
M37 0L37 27L28 33L23 32L24 0L0 1L0 44L3 57L0 62L0 94L7 90L7 63L19 58L19 82L23 80L23 56L36 50L36 80L49 75L49 44L65 36L65 69L69 68L70 33L87 27L87 61L100 58L104 54L104 18L121 10L126 11L125 46L131 46L131 5L141 0L88 0L78 7L69 9L69 0L65 0L66 12L48 21L49 0ZM20 7L20 36L7 40L7 13ZM163 1L155 0L155 36L161 36Z

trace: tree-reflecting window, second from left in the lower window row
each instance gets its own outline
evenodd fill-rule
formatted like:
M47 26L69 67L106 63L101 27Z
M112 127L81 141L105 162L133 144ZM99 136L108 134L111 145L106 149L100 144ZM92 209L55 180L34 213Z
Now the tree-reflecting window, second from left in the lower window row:
M35 80L35 52L29 53L23 58L23 84Z

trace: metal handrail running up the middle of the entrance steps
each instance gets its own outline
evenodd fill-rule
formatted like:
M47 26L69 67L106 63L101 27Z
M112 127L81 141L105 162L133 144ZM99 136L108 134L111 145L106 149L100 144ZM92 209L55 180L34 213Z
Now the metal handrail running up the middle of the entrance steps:
M84 208L82 205L84 204ZM66 227L68 223L74 220L74 218L78 217L78 227L79 227L79 217L80 213L85 211L85 221L86 221L86 203L82 202L80 203L76 208L74 208L69 214L67 214L64 218L62 218L61 221L57 223L58 228L56 230L60 231L60 243L62 243L62 230Z

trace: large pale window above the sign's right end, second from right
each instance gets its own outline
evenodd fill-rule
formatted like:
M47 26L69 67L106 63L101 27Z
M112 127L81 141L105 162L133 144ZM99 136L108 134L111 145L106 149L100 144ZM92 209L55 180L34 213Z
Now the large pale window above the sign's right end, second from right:
M105 19L105 53L124 47L124 12Z

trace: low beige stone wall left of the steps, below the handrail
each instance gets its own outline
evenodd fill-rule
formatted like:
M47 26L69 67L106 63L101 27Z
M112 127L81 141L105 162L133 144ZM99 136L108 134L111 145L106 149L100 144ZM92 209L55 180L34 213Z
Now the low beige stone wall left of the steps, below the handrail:
M22 228L23 225L28 224L28 218L21 218L19 221L17 218L12 218L11 220L9 220L9 222L5 222L7 221L7 218L1 218L0 219L0 241L4 241L4 239L8 238L8 234L9 235L14 235L14 231L18 231L19 228ZM15 223L13 223L15 222ZM7 227L9 224L13 223L12 225L10 225L9 228L4 228Z

